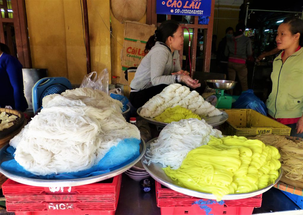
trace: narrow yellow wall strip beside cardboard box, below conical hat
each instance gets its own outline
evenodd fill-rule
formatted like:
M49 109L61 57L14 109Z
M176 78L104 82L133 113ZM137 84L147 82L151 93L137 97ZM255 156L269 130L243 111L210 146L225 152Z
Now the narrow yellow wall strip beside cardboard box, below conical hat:
M111 62L112 62L112 76L120 76L121 72L121 51L123 48L124 41L124 24L120 23L111 12L112 17L112 34L114 37L111 38ZM146 24L146 12L143 17L138 21Z

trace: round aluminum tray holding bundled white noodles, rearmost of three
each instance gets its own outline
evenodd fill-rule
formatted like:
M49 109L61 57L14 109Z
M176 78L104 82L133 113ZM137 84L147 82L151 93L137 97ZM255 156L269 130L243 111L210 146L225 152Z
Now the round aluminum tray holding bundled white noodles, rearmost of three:
M137 110L137 113L139 116L141 116L144 120L146 120L148 123L151 123L151 124L154 124L154 125L157 125L157 126L163 126L165 127L166 125L168 125L169 123L162 123L162 122L158 122L152 118L148 118L148 117L145 117L145 116L142 116L140 114L140 111L141 111L142 107L139 107L138 110ZM223 111L223 110L220 110L222 112L221 115L219 116L207 116L207 117L204 117L202 119L205 120L205 122L208 124L208 125L211 125L211 126L218 126L218 125L221 125L222 123L224 123L227 119L228 119L228 114Z

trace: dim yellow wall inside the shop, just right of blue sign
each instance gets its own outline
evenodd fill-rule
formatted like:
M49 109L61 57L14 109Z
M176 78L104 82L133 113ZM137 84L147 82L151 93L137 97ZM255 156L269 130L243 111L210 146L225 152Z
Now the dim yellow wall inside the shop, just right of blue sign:
M226 8L226 10L216 9L216 8ZM218 44L221 41L221 39L225 37L225 30L228 27L232 27L235 31L236 25L238 24L239 11L230 10L231 8L239 9L240 6L215 5L215 19L214 19L213 34L217 35L216 49L218 48Z

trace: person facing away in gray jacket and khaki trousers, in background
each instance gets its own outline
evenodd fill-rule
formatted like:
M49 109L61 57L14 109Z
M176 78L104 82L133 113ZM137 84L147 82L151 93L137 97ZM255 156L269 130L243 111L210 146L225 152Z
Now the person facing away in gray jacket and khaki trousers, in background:
M248 90L246 59L252 55L251 42L244 31L245 25L238 23L235 36L227 39L224 52L228 56L228 80L235 81L237 74L242 91Z

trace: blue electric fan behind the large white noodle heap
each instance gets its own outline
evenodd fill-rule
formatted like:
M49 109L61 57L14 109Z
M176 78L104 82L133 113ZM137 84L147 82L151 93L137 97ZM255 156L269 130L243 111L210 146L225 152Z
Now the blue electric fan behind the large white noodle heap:
M42 107L42 99L44 96L55 93L61 94L67 89L72 89L72 84L64 77L46 77L37 81L32 88L34 113Z

